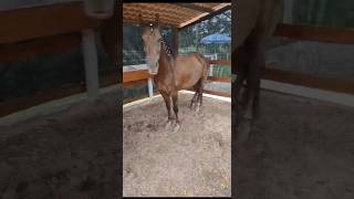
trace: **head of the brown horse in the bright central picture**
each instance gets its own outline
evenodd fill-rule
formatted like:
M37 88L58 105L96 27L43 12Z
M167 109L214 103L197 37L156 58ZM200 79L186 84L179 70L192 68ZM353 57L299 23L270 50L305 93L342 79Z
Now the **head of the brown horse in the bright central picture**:
M158 15L156 17L158 19ZM157 74L158 60L162 49L162 34L158 21L156 24L148 24L143 27L142 39L144 42L145 60L148 72L150 74Z

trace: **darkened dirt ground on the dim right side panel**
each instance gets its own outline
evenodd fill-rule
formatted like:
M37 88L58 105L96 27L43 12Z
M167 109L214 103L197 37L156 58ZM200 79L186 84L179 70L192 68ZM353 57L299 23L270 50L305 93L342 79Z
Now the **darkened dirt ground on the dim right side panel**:
M232 154L240 199L354 198L353 107L263 91L261 108Z

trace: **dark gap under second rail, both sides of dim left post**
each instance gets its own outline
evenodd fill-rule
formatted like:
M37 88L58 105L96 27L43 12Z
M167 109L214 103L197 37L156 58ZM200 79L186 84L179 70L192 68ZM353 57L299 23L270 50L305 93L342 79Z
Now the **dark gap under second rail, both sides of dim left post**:
M116 69L101 45L97 45L97 53L100 77L115 74ZM79 46L66 52L0 63L0 102L71 87L77 83L85 84L84 62Z

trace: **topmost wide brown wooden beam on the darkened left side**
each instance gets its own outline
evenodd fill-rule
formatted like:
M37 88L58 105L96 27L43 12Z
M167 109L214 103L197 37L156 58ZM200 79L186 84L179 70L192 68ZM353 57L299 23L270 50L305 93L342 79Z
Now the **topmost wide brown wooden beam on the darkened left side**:
M77 32L100 21L84 13L81 2L0 11L0 44Z

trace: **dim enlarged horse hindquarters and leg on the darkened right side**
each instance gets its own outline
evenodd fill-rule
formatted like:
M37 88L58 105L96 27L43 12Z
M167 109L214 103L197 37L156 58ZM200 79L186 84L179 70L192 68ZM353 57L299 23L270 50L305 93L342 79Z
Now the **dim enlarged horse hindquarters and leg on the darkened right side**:
M236 63L236 66L232 66L232 73L236 70L237 74L232 94L237 98L237 105L241 101L243 105L243 112L238 114L236 123L237 127L241 127L241 142L248 138L251 122L259 113L260 78L266 66L266 45L282 13L283 0L232 0L232 15L236 18L236 38L232 40L232 59L236 59L232 63ZM247 87L241 97L240 91L244 81Z

